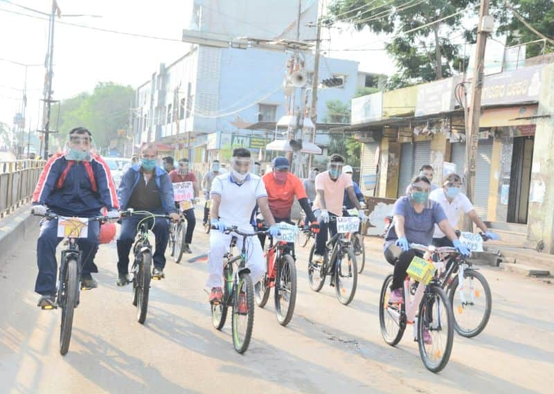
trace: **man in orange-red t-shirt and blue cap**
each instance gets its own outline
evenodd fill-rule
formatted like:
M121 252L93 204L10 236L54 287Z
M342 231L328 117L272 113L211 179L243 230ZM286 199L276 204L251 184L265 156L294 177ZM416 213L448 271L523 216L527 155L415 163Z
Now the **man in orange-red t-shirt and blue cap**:
M287 222L292 224L290 220L290 213L292 210L292 203L294 197L298 199L300 206L306 213L306 220L310 222L312 231L314 233L319 232L319 223L314 216L310 202L307 199L304 186L300 178L289 172L289 159L284 156L277 156L273 163L271 163L273 170L267 172L262 177L265 183L265 190L267 191L267 202L269 203L269 210L275 217L275 222ZM265 242L265 235L258 235L262 247ZM294 251L293 251L294 255Z

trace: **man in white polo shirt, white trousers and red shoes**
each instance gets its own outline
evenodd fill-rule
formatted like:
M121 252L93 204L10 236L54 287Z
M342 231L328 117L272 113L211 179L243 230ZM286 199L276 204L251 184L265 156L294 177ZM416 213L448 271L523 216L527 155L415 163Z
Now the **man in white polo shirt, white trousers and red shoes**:
M267 204L267 192L262 179L249 173L252 166L250 151L239 147L233 150L231 172L213 180L211 188L211 226L219 231L210 233L208 267L210 274L207 285L211 288L210 302L222 301L223 255L229 249L233 233L225 234L229 226L238 226L240 231L251 231L251 213L258 204L265 222L270 226L269 233L276 236L279 229ZM248 263L253 283L257 283L265 272L265 260L260 240L248 238ZM238 248L242 248L242 238L238 238ZM242 303L240 303L242 305Z

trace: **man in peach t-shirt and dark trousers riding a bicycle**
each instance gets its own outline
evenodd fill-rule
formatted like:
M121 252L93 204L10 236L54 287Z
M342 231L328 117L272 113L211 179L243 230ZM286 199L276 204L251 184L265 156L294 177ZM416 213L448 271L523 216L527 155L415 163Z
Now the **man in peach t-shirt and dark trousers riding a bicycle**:
M328 231L331 237L337 234L337 222L330 217L342 216L342 203L344 190L352 205L358 210L359 218L364 221L366 215L362 211L354 191L352 178L342 173L344 158L340 154L332 154L329 159L328 170L321 172L316 177L316 199L314 201L314 214L318 218L320 231L316 235L316 250L313 262L323 262L325 244L328 240Z

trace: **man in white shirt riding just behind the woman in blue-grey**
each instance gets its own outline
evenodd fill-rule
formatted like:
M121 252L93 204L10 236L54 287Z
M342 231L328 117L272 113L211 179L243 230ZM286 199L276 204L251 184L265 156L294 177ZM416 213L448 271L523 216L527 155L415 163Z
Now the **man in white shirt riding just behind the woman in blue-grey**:
M475 212L470 200L460 192L461 184L462 180L458 174L448 174L445 178L445 183L443 183L443 188L433 190L429 195L429 199L438 202L443 208L447 220L453 229L456 229L461 213L464 213L470 217L472 222L474 222L488 238L491 240L498 240L498 235L489 231L485 223L483 223L479 215ZM433 244L436 247L452 247L452 242L436 225L433 234Z

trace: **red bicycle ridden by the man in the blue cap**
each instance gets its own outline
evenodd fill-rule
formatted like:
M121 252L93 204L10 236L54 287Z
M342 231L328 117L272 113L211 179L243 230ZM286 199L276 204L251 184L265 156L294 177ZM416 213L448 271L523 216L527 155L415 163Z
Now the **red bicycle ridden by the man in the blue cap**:
M265 253L266 273L254 285L254 299L258 307L265 307L271 287L275 287L277 321L285 326L292 319L296 304L296 262L290 254L288 244L294 243L299 231L298 227L292 224L278 223L278 226L280 235L275 240L269 235L269 248ZM263 226L258 226L260 227Z

